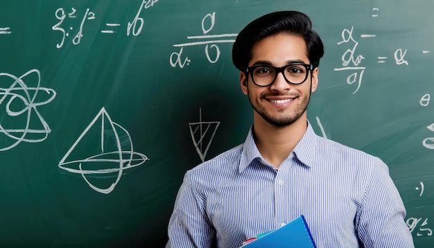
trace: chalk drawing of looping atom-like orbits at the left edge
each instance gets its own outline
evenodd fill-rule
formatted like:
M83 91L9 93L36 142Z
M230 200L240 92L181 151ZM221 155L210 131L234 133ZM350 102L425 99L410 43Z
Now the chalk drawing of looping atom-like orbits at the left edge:
M44 141L51 129L37 107L51 103L55 91L41 87L41 73L32 69L22 76L0 73L0 151L15 148L21 142Z

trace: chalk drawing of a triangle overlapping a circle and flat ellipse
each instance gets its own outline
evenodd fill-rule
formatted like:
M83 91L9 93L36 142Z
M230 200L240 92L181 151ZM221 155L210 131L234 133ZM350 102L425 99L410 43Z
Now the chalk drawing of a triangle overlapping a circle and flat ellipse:
M94 147L87 148L89 144ZM95 154L91 150L98 152ZM134 152L128 131L114 123L103 107L60 160L59 168L80 174L94 191L108 194L119 183L124 170L140 166L147 160L144 154ZM92 175L96 175L94 182L88 178ZM108 187L96 186L98 179L106 177L116 179Z

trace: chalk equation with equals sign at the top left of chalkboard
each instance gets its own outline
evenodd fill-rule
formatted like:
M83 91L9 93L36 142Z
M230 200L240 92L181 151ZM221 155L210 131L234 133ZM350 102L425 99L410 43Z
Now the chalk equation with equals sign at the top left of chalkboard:
M144 19L140 17L141 10L153 7L158 0L143 0L141 1L139 10L137 11L134 19L132 21L128 21L126 28L126 35L137 36L141 33L141 30L144 26ZM51 29L60 32L61 39L58 44L55 45L57 48L62 48L64 46L65 39L69 36L73 36L72 44L77 45L80 44L81 39L83 37L83 28L85 28L85 24L87 21L92 21L96 19L95 12L91 11L90 8L86 8L84 14L78 12L76 8L65 9L58 8L55 10L55 18L58 19L58 23L51 27ZM79 24L77 30L74 30L73 21L69 21L70 24L67 25L66 20L79 19ZM66 25L67 27L64 27ZM117 30L121 28L121 24L118 22L110 22L105 24L105 29L101 30L103 34L114 34L117 33Z

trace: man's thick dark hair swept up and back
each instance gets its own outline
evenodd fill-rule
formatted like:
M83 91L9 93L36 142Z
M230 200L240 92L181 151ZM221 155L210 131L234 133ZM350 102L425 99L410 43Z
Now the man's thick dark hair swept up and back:
M279 11L263 15L245 26L232 47L232 62L240 71L245 71L252 58L252 47L261 39L288 33L300 35L307 46L307 57L314 67L320 64L320 58L324 55L324 46L320 35L311 29L311 19L298 11Z

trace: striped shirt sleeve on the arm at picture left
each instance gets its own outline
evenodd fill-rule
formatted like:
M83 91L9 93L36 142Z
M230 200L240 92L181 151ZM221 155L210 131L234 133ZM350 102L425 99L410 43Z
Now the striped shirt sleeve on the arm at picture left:
M204 202L186 172L168 223L166 247L214 247L216 231L207 218Z

